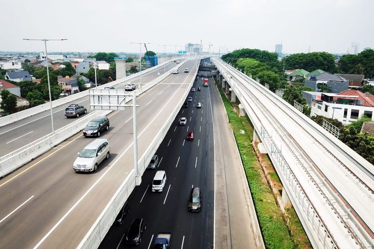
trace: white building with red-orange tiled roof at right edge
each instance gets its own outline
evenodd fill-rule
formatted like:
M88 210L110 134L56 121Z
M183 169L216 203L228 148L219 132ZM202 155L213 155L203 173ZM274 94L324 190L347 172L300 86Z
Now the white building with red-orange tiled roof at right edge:
M321 115L337 119L343 124L357 121L363 115L373 121L374 96L358 90L345 90L338 94L322 93L321 100L312 101L311 116Z

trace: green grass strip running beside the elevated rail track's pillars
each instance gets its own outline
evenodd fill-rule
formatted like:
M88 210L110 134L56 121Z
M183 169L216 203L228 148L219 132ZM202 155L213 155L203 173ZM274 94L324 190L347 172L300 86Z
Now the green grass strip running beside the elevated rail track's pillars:
M291 234L293 234L292 237L294 240L291 238L289 228L284 220L284 216L276 204L273 192L266 181L264 172L261 169L261 165L257 161L256 154L252 149L251 142L253 140L253 125L247 117L238 117L237 113L235 112L236 105L231 105L220 87L218 87L218 90L223 100L229 123L234 132L236 143L239 148L240 156L256 208L261 232L264 238L265 247L274 249L311 248L300 221L298 221L296 213L293 211L293 208L290 209L292 210L291 213L293 212L294 215L288 218L289 225L291 225L290 228L292 229ZM267 157L265 160L268 160ZM272 172L270 177L274 181L280 183L280 180L275 172ZM295 217L296 221L294 219ZM307 243L305 243L305 240L300 242L295 238L299 236L306 238Z

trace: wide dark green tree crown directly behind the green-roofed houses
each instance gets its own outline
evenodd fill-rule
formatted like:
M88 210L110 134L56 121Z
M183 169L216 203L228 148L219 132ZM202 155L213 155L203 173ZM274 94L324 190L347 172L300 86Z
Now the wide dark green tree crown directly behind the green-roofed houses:
M325 72L335 73L335 57L327 52L312 52L291 54L282 59L284 69L305 69L312 72L321 69Z

